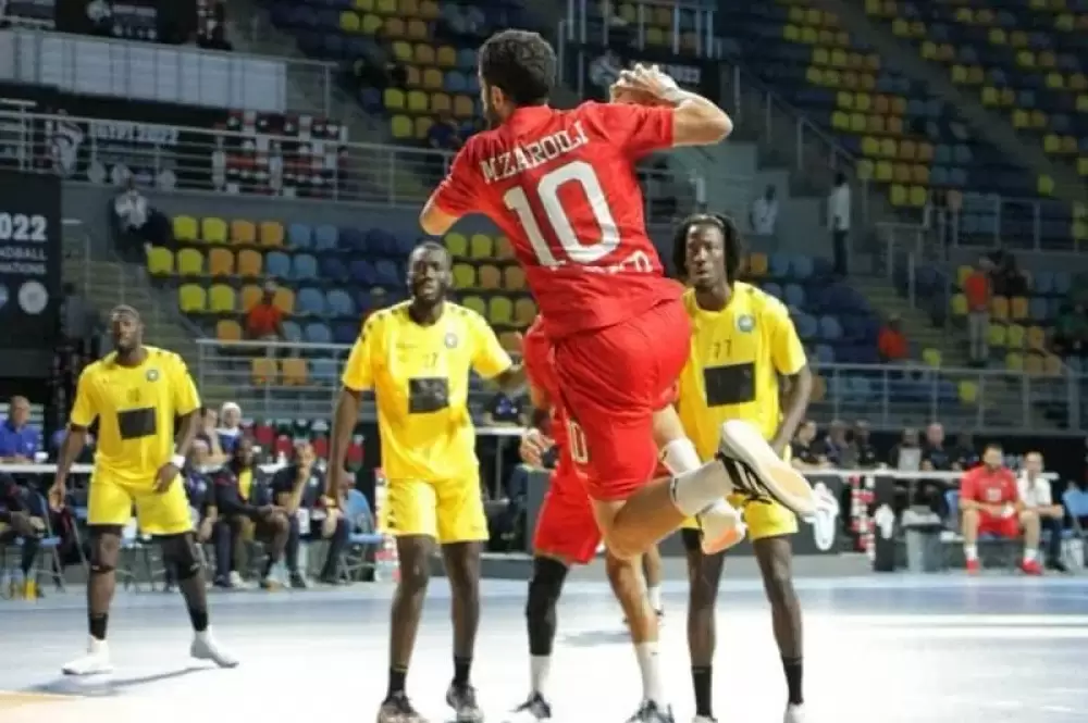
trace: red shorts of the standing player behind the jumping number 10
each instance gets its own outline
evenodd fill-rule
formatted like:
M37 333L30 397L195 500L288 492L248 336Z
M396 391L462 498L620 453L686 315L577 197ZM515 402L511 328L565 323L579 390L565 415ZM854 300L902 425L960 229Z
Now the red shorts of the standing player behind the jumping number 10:
M554 473L536 518L533 552L584 565L596 556L599 545L601 531L585 483L573 470Z

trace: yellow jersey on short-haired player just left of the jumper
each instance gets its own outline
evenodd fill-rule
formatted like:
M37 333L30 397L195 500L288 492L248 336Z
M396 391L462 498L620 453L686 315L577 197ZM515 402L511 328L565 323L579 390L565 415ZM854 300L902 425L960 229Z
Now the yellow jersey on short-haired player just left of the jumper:
M483 316L446 301L421 326L406 301L373 313L344 369L348 389L373 389L390 479L458 479L478 474L469 372L492 378L512 365Z

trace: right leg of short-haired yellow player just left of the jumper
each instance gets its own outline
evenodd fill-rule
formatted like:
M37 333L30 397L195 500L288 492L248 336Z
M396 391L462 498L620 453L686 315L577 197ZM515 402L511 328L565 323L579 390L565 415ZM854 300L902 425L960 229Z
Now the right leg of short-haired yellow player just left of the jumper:
M446 702L458 723L480 723L483 712L477 705L475 689L469 682L477 629L480 626L481 543L454 543L442 546L446 577L450 588L450 615L454 621L454 680L446 691Z

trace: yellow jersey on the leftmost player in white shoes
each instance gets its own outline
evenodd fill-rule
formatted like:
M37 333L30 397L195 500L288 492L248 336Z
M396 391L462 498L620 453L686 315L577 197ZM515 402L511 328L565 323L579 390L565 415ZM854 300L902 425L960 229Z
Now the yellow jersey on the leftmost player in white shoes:
M98 420L94 475L122 483L154 482L174 456L174 420L200 408L193 377L173 351L144 347L139 366L116 363L116 352L79 375L69 421L89 427Z

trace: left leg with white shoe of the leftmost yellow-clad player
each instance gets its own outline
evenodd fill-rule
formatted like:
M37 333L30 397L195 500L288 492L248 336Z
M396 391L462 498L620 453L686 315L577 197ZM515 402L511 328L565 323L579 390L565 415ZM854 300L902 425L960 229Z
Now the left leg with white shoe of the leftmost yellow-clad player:
M116 588L116 568L121 559L121 526L91 525L90 576L87 578L87 652L64 665L65 675L96 675L113 670L106 628L110 603Z

